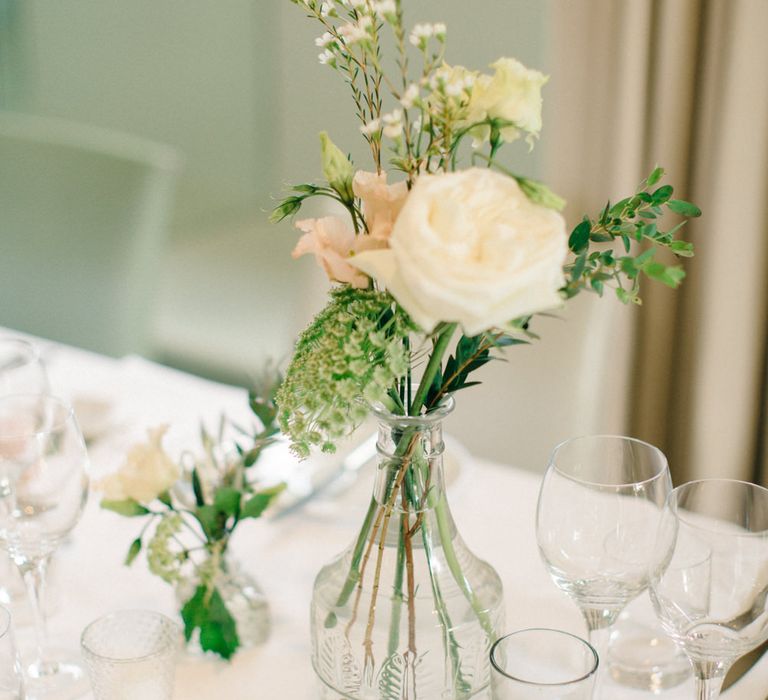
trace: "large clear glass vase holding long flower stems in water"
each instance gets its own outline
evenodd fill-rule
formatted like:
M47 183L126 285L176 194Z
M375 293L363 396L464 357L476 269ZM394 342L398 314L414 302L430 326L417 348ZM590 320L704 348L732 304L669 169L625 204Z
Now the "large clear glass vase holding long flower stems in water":
M379 463L368 512L312 596L312 663L324 700L489 697L503 591L448 507L442 422L452 408L449 398L426 416L375 411Z

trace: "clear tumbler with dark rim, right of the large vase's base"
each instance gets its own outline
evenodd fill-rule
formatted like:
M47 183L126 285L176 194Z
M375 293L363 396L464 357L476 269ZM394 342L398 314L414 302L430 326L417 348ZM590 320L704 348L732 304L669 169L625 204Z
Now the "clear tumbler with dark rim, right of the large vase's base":
M598 656L583 639L552 629L513 632L491 647L494 700L589 700Z

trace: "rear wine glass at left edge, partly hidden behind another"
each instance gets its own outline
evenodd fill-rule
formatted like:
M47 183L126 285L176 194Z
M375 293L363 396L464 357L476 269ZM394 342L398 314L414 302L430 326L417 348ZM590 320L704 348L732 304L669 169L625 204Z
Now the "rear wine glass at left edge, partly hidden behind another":
M15 337L0 337L0 396L44 394L48 374L36 345ZM0 554L0 602L23 599L24 587L5 553Z

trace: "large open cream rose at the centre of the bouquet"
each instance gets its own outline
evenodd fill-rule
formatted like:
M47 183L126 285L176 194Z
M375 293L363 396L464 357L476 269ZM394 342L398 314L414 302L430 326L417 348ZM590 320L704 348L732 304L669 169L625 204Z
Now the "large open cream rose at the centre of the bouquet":
M422 175L389 243L352 264L383 284L426 332L455 321L476 335L562 303L563 217L495 171Z

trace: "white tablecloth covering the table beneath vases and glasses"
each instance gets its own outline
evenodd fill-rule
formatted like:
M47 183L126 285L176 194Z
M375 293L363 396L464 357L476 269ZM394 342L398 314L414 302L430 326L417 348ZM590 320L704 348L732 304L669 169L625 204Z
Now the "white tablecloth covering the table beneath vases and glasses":
M170 450L196 448L201 420L216 424L221 412L248 418L245 392L149 363L113 360L49 346L46 351L55 393L82 401L108 400L108 426L90 449L94 473L116 467L148 426L168 423ZM488 420L488 417L485 418ZM503 418L499 430L504 430ZM450 421L448 422L450 431ZM449 484L449 497L464 539L490 561L504 582L508 629L551 626L584 635L576 606L552 583L538 556L534 512L540 477L510 466L464 458ZM363 473L348 491L318 499L280 519L246 522L232 548L261 582L271 603L273 627L264 645L231 663L185 657L175 698L183 700L310 700L317 697L309 658L308 604L315 572L355 535L371 488ZM71 543L53 567L52 636L72 647L91 620L116 609L151 608L175 614L169 587L150 575L143 558L122 561L140 523L98 507L92 497ZM765 659L732 690L727 700L763 700L768 691ZM650 698L605 686L605 700ZM691 684L663 699L693 698Z

